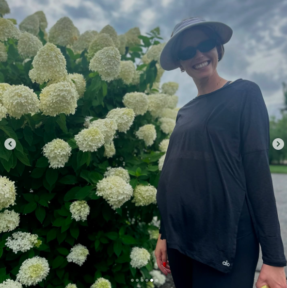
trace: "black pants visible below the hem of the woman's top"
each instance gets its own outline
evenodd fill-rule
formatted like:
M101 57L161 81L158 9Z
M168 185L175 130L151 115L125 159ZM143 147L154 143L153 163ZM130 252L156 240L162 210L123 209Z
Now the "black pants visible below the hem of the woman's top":
M259 259L259 242L247 212L247 206L244 206L230 273L223 273L181 254L178 250L169 248L167 242L167 255L175 288L253 288Z

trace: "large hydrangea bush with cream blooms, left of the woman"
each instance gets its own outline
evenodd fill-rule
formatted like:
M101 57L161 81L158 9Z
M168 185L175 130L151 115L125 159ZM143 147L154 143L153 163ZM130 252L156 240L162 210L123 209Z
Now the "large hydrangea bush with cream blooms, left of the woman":
M19 28L9 13L0 0L0 288L162 285L156 193L178 84L159 88L159 28L80 34L63 17L47 32L42 11Z

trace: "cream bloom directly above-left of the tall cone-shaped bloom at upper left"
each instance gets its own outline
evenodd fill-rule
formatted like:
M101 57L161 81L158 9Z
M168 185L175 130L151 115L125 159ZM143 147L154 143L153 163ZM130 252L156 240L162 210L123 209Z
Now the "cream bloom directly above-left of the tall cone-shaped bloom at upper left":
M23 58L34 57L42 47L42 42L36 36L28 32L21 33L17 48Z

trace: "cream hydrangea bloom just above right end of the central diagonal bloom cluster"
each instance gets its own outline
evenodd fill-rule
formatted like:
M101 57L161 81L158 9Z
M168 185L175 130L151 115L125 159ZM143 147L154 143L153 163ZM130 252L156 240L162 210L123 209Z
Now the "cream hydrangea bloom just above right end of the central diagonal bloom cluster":
M147 112L147 95L142 92L129 92L123 97L123 103L127 108L132 109L136 115L143 115Z

